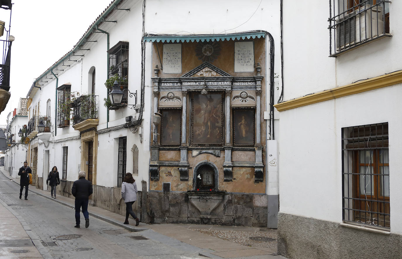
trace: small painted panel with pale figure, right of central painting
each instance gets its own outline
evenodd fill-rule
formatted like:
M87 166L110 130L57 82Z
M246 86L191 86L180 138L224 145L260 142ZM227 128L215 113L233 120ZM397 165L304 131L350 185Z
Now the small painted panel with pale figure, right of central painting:
M233 109L233 145L254 146L254 109Z

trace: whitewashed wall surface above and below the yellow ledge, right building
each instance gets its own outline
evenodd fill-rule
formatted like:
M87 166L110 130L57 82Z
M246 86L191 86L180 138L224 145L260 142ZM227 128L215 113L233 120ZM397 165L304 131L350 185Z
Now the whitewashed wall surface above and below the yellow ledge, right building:
M401 11L401 2L390 4L391 17ZM284 101L401 69L398 19L391 19L392 37L332 58L328 1L316 1L314 12L284 1L283 14ZM402 85L394 85L281 111L280 211L342 222L341 128L388 121L391 232L402 233L401 96Z

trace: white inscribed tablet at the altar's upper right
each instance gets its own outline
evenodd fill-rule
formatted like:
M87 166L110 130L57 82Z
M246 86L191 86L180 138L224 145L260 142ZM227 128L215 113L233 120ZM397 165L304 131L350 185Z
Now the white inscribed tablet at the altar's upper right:
M234 42L234 71L254 71L254 45L252 41Z

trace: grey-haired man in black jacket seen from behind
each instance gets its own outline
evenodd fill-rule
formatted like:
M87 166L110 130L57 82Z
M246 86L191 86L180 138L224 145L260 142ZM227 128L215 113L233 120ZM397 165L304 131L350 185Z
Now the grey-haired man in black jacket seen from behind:
M76 210L76 225L74 227L80 227L80 208L82 208L82 214L85 218L85 227L89 227L89 214L88 214L88 199L92 194L92 183L85 179L85 171L78 173L78 180L73 183L71 188L71 194L75 199Z

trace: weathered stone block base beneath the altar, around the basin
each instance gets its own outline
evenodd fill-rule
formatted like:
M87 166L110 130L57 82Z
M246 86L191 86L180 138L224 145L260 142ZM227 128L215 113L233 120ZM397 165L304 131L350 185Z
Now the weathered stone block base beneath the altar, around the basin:
M208 216L189 200L187 192L147 194L147 223L182 223L267 227L267 195L225 193Z

